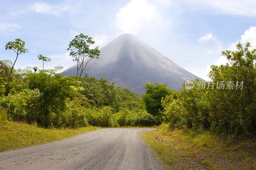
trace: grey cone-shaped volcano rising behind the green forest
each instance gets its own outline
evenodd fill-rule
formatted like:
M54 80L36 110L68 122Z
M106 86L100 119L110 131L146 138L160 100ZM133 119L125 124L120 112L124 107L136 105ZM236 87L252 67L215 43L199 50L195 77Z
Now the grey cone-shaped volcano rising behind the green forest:
M173 63L131 34L121 34L100 49L99 59L93 59L83 71L96 78L105 77L109 82L115 82L131 89L133 92L145 93L145 83L166 84L172 90L180 90L180 85L186 80L202 78ZM62 74L76 75L76 65L71 66Z

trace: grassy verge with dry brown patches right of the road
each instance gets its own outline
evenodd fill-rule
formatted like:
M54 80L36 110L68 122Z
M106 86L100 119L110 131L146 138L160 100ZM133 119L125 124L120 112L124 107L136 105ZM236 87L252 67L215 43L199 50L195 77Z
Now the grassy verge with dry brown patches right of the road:
M165 169L256 169L256 141L167 124L141 134Z

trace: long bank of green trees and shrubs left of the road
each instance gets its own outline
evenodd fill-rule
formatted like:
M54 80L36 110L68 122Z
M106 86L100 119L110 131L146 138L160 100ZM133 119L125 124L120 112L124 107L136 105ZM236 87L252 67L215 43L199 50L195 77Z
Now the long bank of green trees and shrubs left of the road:
M143 109L139 94L115 86L106 78L63 76L52 70L15 70L1 67L0 107L7 119L44 127L152 126L156 116ZM7 78L8 75L8 78ZM9 83L8 83L9 82ZM8 89L8 95L4 95Z

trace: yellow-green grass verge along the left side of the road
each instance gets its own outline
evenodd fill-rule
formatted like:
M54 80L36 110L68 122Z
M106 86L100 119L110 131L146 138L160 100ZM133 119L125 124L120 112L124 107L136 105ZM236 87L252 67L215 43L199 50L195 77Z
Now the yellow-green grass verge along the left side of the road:
M45 144L99 128L88 126L76 129L44 129L21 122L0 122L0 152Z

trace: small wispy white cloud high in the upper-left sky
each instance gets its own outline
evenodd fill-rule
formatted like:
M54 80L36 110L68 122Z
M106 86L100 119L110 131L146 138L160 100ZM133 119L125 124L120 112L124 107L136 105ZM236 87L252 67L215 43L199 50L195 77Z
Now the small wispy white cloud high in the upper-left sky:
M42 14L60 14L63 11L68 10L68 6L54 6L47 3L36 2L32 9L37 13Z

